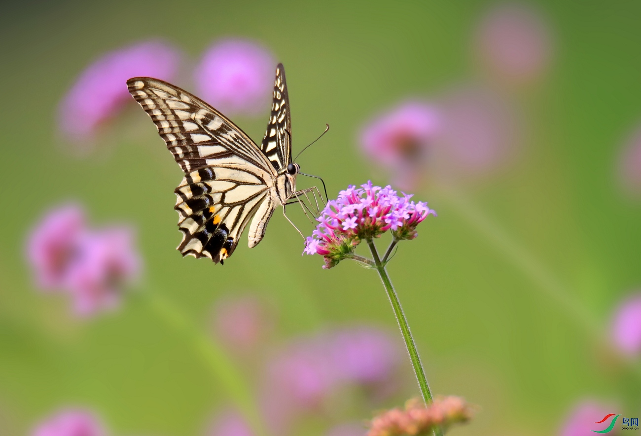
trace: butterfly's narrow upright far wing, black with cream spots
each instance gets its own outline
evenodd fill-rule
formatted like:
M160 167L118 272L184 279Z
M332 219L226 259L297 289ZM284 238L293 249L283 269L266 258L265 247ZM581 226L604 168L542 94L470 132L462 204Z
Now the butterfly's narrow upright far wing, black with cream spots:
M292 121L283 64L278 64L276 67L272 97L272 112L260 150L267 155L276 171L282 171L292 163Z

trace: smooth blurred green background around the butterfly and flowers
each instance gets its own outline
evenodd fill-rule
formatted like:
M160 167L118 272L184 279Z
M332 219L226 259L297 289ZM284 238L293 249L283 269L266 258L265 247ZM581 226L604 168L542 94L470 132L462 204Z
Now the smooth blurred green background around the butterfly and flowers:
M262 42L287 67L294 152L331 125L299 159L303 171L324 177L331 197L368 178L389 182L358 149L358 131L373 114L483 80L474 32L494 5L4 4L0 433L26 434L72 404L99 412L116 434L198 435L229 403L185 338L137 298L78 320L64 299L35 290L24 240L48 208L68 199L83 203L94 224L135 224L145 263L140 292L166 295L203 329L215 300L251 292L278 313L276 342L355 323L397 332L376 274L347 261L320 269L320 256L301 256L301 240L279 214L262 244L249 250L242 242L224 267L181 258L172 210L180 171L136 105L110 123L89 157L74 157L56 136L56 107L83 68L160 36L190 57L176 80L189 89L189 68L217 38ZM453 435L556 434L584 398L641 413L641 366L608 341L613 308L641 283L641 207L619 193L616 177L620 150L641 119L641 3L533 7L547 20L554 52L542 79L508 93L526 125L520 152L482 180L415 189L438 218L421 224L420 237L404 242L389 267L433 391L481 407ZM259 118L235 118L255 140L265 109ZM403 391L383 406L418 394L410 367L403 369ZM351 419L371 416L358 410ZM299 434L321 435L324 425L312 419Z

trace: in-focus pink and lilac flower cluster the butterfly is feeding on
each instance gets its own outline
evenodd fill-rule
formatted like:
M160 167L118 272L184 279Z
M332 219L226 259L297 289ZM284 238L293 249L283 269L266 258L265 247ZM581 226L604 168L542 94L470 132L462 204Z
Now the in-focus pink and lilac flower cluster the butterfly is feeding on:
M389 185L381 188L371 181L360 188L349 185L322 210L304 253L324 256L323 268L328 269L349 256L363 239L378 238L388 230L397 240L417 237L416 226L436 212L428 203L414 203L410 198L412 195L400 197Z

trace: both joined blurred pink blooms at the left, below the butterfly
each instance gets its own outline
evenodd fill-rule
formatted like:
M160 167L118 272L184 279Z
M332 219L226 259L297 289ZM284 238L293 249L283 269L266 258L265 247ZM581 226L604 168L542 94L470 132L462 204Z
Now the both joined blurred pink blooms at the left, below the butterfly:
M90 230L83 210L67 205L52 210L27 243L28 260L43 290L72 297L78 315L117 305L138 275L140 258L129 228Z

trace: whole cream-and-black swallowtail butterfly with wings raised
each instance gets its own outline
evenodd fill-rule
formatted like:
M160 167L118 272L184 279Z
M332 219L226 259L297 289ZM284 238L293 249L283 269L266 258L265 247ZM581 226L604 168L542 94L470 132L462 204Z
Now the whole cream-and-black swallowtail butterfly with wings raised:
M178 86L151 77L133 77L127 86L185 173L174 191L183 233L177 249L183 256L224 263L250 221L252 248L278 206L285 215L289 199L310 192L296 191L300 167L292 163L282 64L276 67L272 111L260 147L226 116Z

